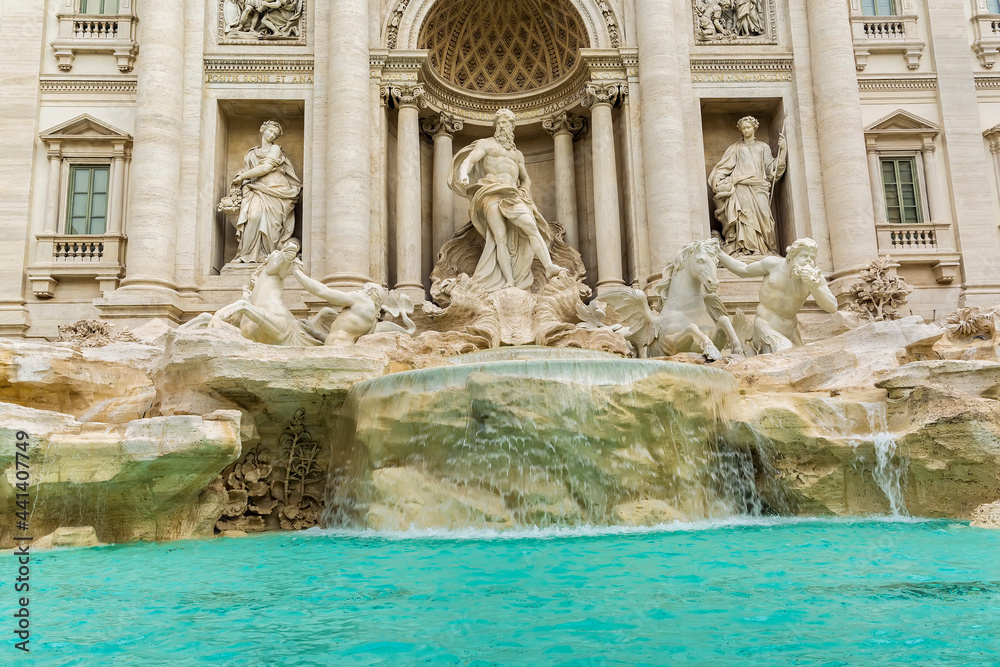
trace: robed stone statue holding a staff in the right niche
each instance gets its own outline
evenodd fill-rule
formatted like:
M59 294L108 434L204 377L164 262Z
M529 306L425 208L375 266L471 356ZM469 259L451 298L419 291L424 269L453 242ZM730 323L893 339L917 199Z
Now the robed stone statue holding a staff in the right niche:
M715 193L715 217L722 223L723 250L731 255L777 253L778 241L771 215L771 189L785 173L784 135L778 136L778 155L757 141L760 123L745 116L736 124L743 139L726 149L708 177Z

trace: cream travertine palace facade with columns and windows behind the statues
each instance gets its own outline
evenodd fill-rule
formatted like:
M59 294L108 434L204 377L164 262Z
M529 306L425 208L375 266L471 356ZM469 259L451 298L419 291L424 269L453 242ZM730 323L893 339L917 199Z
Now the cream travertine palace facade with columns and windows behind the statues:
M891 255L914 314L994 305L1000 15L987 0L867 4L3 3L0 333L182 323L237 300L255 266L232 261L217 205L267 120L302 180L305 272L417 300L469 217L447 167L500 107L595 292L646 288L723 231L708 176L752 115L772 154L787 143L776 245L815 239L839 298ZM753 308L756 283L720 277L730 308ZM296 316L324 305L285 291Z

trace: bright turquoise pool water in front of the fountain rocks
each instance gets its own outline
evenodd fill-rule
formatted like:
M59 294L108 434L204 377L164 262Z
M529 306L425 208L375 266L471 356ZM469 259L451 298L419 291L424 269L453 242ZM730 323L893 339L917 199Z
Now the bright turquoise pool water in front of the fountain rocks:
M45 665L1000 663L1000 532L939 521L317 531L47 552L31 576Z

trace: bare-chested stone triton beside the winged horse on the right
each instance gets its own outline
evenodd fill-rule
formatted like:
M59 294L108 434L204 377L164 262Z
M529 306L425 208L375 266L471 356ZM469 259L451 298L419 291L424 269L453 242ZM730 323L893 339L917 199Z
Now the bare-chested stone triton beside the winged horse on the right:
M810 295L826 312L837 312L837 297L816 266L818 250L812 239L799 239L788 246L784 259L765 257L744 264L725 253L719 255L722 265L739 277L764 278L750 340L758 353L770 354L802 345L798 312Z

